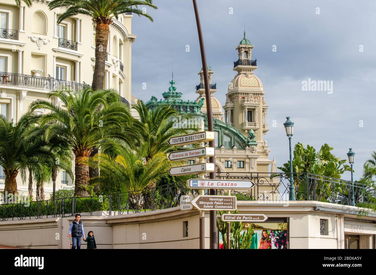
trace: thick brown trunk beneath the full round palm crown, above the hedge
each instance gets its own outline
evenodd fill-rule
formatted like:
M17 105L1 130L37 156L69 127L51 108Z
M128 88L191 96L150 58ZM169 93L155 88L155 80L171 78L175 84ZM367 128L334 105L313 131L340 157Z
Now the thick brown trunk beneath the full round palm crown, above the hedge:
M89 196L88 157L76 156L74 160L74 196Z

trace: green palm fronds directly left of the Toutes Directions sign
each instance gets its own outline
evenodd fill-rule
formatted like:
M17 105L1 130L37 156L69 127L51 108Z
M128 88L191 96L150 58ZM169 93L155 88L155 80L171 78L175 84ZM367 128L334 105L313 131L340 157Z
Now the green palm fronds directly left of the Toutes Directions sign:
M171 105L158 106L155 109L148 110L143 101L138 100L132 108L137 110L140 117L140 123L134 124L135 130L139 132L141 137L138 143L136 141L136 144L140 146L140 143L144 141L149 145L146 154L147 161L156 153L169 153L177 150L177 147L168 144L170 137L198 130L197 128L174 127L174 118L182 116L182 118L189 119L193 116L180 115Z

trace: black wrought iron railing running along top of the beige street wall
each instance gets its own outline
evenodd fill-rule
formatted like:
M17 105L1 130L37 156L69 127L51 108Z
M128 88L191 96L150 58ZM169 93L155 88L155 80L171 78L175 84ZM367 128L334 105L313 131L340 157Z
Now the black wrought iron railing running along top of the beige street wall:
M372 202L376 197L372 186L309 173L217 172L217 178L237 178L255 183L247 192L231 190L231 194L237 196L239 201L288 201L290 180L296 188L293 196L297 201L351 205L353 200L361 211L362 204ZM180 196L198 193L199 189L188 189L183 180L101 197L73 197L13 204L0 202L0 221L70 217L76 213L91 216L97 211L105 216L150 212L177 207ZM218 195L227 195L227 191L218 188Z

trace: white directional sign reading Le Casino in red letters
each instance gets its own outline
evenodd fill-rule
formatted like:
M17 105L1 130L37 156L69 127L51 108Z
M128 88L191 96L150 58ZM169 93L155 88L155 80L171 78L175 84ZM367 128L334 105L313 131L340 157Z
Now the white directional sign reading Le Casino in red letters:
M191 179L187 180L188 188L208 188L208 189L250 189L255 184L250 180L211 180L211 179Z

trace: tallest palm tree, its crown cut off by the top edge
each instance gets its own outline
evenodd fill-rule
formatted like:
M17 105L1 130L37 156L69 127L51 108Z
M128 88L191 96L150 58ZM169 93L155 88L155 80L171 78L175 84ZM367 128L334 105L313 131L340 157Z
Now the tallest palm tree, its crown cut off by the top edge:
M96 24L96 60L93 74L92 88L94 90L103 88L103 79L105 77L105 60L106 49L109 35L109 25L113 18L127 12L132 12L138 16L145 16L153 21L153 18L138 9L138 5L145 5L157 9L152 4L152 0L135 1L135 0L52 0L49 3L50 9L67 8L58 18L57 23L61 23L67 17L77 14L88 15ZM135 6L134 8L132 6Z

